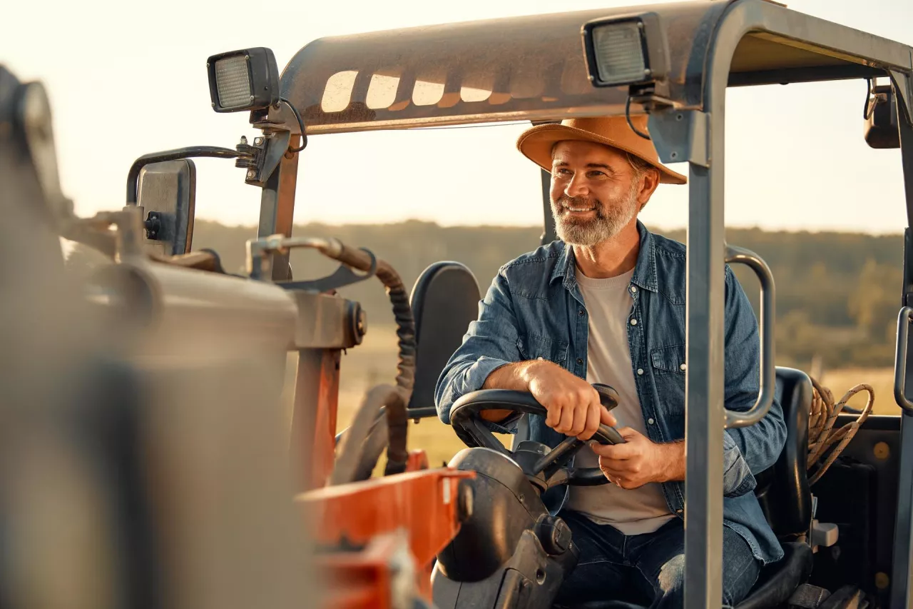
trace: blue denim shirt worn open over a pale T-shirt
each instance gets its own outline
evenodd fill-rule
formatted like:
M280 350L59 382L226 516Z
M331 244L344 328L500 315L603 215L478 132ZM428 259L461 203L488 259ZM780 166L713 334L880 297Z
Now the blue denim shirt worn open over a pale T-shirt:
M637 230L640 251L629 285L634 305L627 325L632 374L649 439L674 442L685 437L686 248L649 232L640 221ZM492 371L511 362L544 358L586 379L589 316L574 265L572 248L554 241L500 268L479 303L478 319L437 380L435 401L443 422L449 424L456 400L481 389ZM725 268L724 400L729 410L747 411L760 392L758 323L739 281ZM488 426L514 433L518 418ZM529 423L530 440L554 447L565 437L543 417L530 416ZM782 547L752 491L754 475L776 462L786 439L779 399L760 422L721 433L723 523L748 542L758 560L778 561ZM666 482L662 489L669 511L684 519L685 483Z

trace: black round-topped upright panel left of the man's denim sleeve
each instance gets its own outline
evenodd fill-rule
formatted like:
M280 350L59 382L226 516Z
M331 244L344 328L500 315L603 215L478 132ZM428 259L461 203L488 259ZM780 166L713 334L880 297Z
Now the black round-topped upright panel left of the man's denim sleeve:
M425 416L436 414L437 379L463 344L469 323L477 319L479 299L476 276L459 262L435 262L415 281L409 296L417 344L410 410L423 409Z

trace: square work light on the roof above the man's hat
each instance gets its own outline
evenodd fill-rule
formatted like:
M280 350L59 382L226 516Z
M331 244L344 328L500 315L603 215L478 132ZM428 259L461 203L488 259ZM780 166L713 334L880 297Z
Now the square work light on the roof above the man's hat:
M590 81L597 87L666 78L666 37L655 13L597 19L583 25L582 37Z

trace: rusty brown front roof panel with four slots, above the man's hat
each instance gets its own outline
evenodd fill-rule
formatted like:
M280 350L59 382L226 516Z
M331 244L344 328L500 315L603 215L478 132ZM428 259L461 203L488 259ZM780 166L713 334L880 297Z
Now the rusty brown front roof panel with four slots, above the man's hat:
M725 5L641 5L320 38L291 59L282 94L309 134L620 113L627 89L590 84L581 27L653 11L672 42L674 97L697 103L685 88L691 42Z

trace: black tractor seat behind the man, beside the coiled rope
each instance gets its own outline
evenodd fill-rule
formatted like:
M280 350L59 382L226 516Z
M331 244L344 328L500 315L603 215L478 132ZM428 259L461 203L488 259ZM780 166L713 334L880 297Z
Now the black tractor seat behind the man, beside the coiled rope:
M809 532L812 522L812 492L805 470L812 380L801 370L778 367L777 397L786 422L786 443L777 462L755 476L758 480L755 495L785 555L761 570L758 582L735 609L779 607L812 572L811 547L795 541ZM573 609L644 608L624 601L596 601L574 605Z

